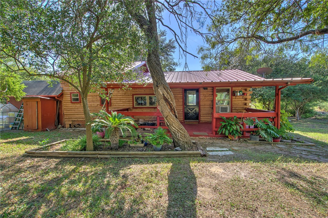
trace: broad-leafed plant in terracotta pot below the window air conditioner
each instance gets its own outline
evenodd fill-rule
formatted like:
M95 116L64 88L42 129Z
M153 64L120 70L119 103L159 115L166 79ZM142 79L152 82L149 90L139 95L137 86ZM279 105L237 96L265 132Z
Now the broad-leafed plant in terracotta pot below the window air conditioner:
M240 124L240 119L236 116L225 118L220 116L223 121L220 122L221 126L217 130L217 133L228 136L231 140L237 140L238 136L241 136L241 130L243 129L243 126Z

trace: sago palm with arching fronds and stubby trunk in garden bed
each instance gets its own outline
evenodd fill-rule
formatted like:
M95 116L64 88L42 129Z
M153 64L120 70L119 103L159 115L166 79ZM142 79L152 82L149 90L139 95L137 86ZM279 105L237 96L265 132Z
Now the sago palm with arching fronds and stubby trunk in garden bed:
M99 113L91 113L92 116L97 116L97 119L93 120L91 126L93 129L100 129L105 127L105 137L111 142L111 148L118 148L119 132L122 132L123 137L127 132L131 132L132 136L136 136L137 132L132 126L138 127L132 117L126 117L122 114L118 114L116 111L112 114L108 114L106 111L101 110Z

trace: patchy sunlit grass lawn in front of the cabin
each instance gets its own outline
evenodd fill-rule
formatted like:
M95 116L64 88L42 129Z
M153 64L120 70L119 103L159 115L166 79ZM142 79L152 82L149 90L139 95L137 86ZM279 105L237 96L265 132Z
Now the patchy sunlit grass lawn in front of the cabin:
M316 121L297 123L296 133L326 146L327 126L318 124L324 129L317 136L308 124ZM223 162L22 157L45 139L82 134L1 132L1 217L328 216L328 165L322 162L271 153Z

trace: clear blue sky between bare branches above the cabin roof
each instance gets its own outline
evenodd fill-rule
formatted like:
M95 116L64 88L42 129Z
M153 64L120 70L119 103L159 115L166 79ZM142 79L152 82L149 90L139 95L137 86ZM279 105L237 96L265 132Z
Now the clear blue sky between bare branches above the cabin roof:
M171 18L169 18L169 15L170 15L170 13L168 11L165 10L163 12L164 24L169 25L172 29L174 29L177 32L177 34L179 34L180 30L178 28L177 23L175 22L174 17L171 15ZM195 23L196 23L196 21L195 21ZM205 23L205 25L202 29L199 29L200 32L206 31L206 24L208 24L208 22ZM171 33L171 31L169 29L162 26L161 24L158 24L158 25L159 25L160 29L167 31L167 36L166 36L167 39L174 39L174 35ZM189 70L202 70L201 64L200 64L200 55L197 54L197 47L200 45L206 46L206 43L203 42L203 38L201 36L195 34L194 32L191 32L190 29L187 31L188 31L188 33L187 33L188 34L187 51L194 54L195 56L198 56L198 58L194 58L193 56L187 54L187 64L188 64ZM175 61L180 63L180 66L176 67L176 71L182 71L183 67L184 67L184 63L185 63L185 56L183 55L183 57L181 57L181 56L179 57L178 45L177 45L177 48L175 49L174 59L175 59Z

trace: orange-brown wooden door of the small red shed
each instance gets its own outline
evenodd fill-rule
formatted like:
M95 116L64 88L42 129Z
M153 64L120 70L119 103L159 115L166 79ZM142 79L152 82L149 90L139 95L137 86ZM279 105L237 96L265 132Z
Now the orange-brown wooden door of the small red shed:
M24 102L24 126L26 129L38 129L37 101Z

